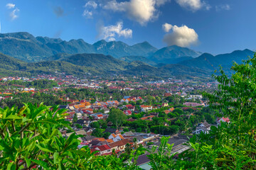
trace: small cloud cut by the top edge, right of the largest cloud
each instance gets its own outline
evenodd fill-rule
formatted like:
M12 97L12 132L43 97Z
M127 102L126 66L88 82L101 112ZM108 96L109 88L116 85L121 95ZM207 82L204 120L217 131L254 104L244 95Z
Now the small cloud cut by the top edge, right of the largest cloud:
M176 2L183 8L188 8L191 11L198 11L201 8L210 9L210 5L206 1L201 0L176 0Z

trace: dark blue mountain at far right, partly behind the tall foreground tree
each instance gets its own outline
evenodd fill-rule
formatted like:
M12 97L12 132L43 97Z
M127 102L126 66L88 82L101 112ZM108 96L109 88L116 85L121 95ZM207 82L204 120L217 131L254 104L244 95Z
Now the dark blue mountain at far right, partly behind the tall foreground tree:
M228 70L233 64L233 61L240 64L242 60L246 60L248 56L252 57L254 52L251 50L236 50L234 52L223 54L223 55L210 55L208 53L204 53L203 55L196 57L192 60L186 60L183 62L179 62L178 64L182 64L191 68L203 69L208 72L213 72L215 69L219 69L221 65L223 69Z

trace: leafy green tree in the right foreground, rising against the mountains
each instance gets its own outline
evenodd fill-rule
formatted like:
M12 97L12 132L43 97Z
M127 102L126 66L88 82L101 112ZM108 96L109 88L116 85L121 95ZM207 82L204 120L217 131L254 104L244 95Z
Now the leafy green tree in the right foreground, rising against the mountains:
M223 69L213 77L219 82L213 94L203 92L216 115L230 119L211 127L208 134L194 136L190 152L176 162L181 169L256 169L256 56L231 67L228 76Z

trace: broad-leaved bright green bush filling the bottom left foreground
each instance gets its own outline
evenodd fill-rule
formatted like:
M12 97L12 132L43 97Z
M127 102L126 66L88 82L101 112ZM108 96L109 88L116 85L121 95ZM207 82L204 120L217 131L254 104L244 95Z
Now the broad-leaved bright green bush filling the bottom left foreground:
M57 106L0 109L0 169L127 169L116 156L96 157L88 147L78 149L78 135L65 139L60 133L69 125L65 110Z

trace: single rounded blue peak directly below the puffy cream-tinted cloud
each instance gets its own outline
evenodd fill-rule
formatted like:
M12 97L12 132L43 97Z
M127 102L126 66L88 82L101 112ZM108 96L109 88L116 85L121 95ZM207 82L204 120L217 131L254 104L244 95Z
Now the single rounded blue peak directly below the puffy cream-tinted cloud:
M172 45L157 50L151 57L149 57L149 60L156 62L157 64L176 64L184 60L191 60L193 57L198 57L199 55L201 55L201 52L195 52L186 47Z

